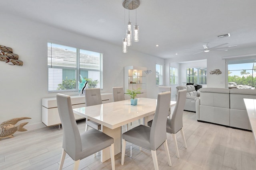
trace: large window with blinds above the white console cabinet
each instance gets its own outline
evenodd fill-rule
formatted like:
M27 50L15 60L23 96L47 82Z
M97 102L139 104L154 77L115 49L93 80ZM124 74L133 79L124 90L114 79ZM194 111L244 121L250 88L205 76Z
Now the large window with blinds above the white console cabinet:
M103 88L102 53L48 43L48 91L76 91L78 81Z

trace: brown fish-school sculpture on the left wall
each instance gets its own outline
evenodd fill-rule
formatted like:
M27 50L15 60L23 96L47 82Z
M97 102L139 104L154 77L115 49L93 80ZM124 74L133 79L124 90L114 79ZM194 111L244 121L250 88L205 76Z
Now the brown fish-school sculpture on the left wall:
M11 47L5 47L4 45L0 45L0 61L5 61L10 65L23 66L23 61L18 59L19 56L12 53Z

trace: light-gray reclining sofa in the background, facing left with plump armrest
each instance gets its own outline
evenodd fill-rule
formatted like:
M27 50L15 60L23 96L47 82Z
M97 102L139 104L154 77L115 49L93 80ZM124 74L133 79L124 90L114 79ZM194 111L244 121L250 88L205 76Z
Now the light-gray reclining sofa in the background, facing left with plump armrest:
M186 96L186 103L184 110L188 111L196 111L196 98L200 97L200 92L196 91L195 87L193 85L186 85L186 86L177 86L177 93L176 93L176 100L177 100L177 94L178 90L187 90L187 96Z

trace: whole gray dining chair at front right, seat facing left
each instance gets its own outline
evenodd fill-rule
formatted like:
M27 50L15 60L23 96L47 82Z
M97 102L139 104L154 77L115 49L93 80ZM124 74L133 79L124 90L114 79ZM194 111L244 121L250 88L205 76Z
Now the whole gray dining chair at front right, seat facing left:
M122 160L121 164L124 164L124 152L126 148L126 141L134 143L140 147L151 150L154 168L158 170L158 162L156 157L156 149L164 144L166 156L169 166L172 166L169 149L167 145L166 136L166 124L162 122L167 121L168 110L170 107L171 95L170 92L164 92L158 94L156 112L152 121L152 127L139 125L123 133L122 135Z

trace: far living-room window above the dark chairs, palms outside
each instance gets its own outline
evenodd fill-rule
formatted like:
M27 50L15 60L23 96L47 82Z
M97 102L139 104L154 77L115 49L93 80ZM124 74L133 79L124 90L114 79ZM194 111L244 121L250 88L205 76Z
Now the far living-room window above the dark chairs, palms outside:
M187 83L207 84L206 67L187 68Z

